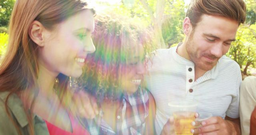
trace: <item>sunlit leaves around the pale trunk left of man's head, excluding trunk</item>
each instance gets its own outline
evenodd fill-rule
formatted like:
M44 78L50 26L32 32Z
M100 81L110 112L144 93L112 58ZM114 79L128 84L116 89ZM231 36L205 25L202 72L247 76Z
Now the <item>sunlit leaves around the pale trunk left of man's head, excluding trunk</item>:
M144 24L145 26L153 30L153 26L155 25L154 20L152 20L150 13L142 5L142 1L148 4L156 20L161 19L158 18L158 16L161 15L156 14L157 4L158 2L160 2L160 0L134 0L133 2L130 2L129 0L122 0L122 5L115 8L118 11L125 10L126 12L124 15L128 15L131 18L140 18L140 24ZM165 44L164 48L169 48L170 46L172 46L172 44L181 42L183 40L184 34L182 32L181 26L185 17L185 9L186 5L184 4L184 0L165 0L164 14L161 25L162 38Z

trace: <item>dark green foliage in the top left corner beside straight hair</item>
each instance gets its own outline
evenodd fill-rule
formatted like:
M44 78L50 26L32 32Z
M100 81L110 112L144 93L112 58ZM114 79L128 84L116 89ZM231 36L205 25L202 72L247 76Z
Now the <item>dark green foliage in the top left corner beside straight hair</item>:
M0 0L0 27L8 26L15 1L16 0Z

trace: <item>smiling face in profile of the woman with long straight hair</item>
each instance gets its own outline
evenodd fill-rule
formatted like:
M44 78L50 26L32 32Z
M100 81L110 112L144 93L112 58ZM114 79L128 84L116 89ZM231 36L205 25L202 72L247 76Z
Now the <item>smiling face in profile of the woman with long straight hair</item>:
M49 71L79 77L84 60L95 51L91 34L94 31L94 15L83 10L46 32L44 47L39 49L39 63Z

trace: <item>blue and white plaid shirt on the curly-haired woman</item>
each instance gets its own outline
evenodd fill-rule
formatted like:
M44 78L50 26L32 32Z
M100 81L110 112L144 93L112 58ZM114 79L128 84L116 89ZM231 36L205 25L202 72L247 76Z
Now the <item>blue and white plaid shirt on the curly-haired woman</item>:
M91 135L142 135L148 105L148 93L139 87L132 95L123 96L122 105L116 114L116 132L102 119L102 111L96 118L86 119L84 123Z

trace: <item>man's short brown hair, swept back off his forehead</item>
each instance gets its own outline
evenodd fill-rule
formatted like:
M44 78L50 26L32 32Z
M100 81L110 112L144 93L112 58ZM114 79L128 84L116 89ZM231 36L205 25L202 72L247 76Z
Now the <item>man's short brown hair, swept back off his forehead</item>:
M200 22L203 14L224 16L240 25L246 19L246 4L244 0L191 0L186 16L193 27Z

